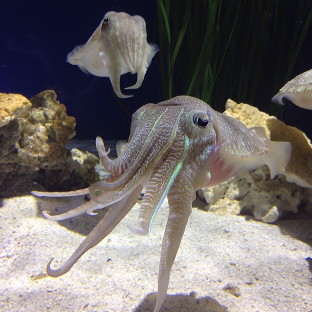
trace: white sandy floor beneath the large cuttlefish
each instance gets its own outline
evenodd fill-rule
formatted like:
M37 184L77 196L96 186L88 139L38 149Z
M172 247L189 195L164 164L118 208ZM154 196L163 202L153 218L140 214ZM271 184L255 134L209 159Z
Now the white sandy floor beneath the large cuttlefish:
M139 236L139 205L58 278L58 268L103 216L55 222L76 198L0 200L0 311L153 312L167 200L151 234ZM194 207L203 203L196 200ZM57 209L57 212L56 212ZM312 312L312 218L265 224L193 209L171 271L162 312ZM236 292L224 290L228 284ZM236 295L235 295L236 294Z

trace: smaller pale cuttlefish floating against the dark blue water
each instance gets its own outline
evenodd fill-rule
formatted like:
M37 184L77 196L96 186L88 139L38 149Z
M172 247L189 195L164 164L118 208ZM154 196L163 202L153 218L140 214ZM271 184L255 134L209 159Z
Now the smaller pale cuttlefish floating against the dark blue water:
M159 48L148 43L145 20L124 12L108 12L87 43L78 45L67 61L85 73L109 77L119 98L129 98L120 90L120 76L137 73L137 82L126 89L141 86L147 68Z

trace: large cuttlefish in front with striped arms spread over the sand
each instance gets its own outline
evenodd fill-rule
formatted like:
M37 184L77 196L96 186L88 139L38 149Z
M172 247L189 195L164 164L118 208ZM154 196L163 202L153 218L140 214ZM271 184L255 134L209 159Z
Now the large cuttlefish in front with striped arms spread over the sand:
M260 129L249 129L237 119L214 111L200 99L179 96L158 104L146 104L132 117L127 144L116 159L109 158L103 140L96 139L100 161L110 176L87 189L72 192L33 192L37 196L75 196L89 194L91 200L60 215L43 215L64 220L83 213L107 214L59 268L47 273L59 276L68 272L90 248L96 246L137 203L143 186L146 190L138 214L137 228L147 235L164 198L169 215L163 237L154 312L165 299L173 266L196 190L223 182L241 170L254 170L267 164L271 176L281 173L291 156L289 142L273 142Z

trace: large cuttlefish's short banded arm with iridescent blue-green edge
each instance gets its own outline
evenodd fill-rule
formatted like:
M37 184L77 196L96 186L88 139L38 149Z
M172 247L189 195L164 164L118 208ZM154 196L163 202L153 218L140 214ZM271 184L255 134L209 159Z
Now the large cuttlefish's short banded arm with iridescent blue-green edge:
M138 229L128 227L135 234L148 235L150 233L155 215L180 172L188 151L189 138L186 136L182 144L181 141L173 143L167 153L168 156L164 156L165 161L153 171L140 207Z

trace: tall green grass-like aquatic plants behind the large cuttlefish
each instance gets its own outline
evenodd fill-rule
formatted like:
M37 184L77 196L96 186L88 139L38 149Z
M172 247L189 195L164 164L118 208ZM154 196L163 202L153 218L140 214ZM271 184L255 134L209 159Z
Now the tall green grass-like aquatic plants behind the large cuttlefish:
M224 110L227 98L277 114L311 31L310 0L157 0L165 98L186 94Z

